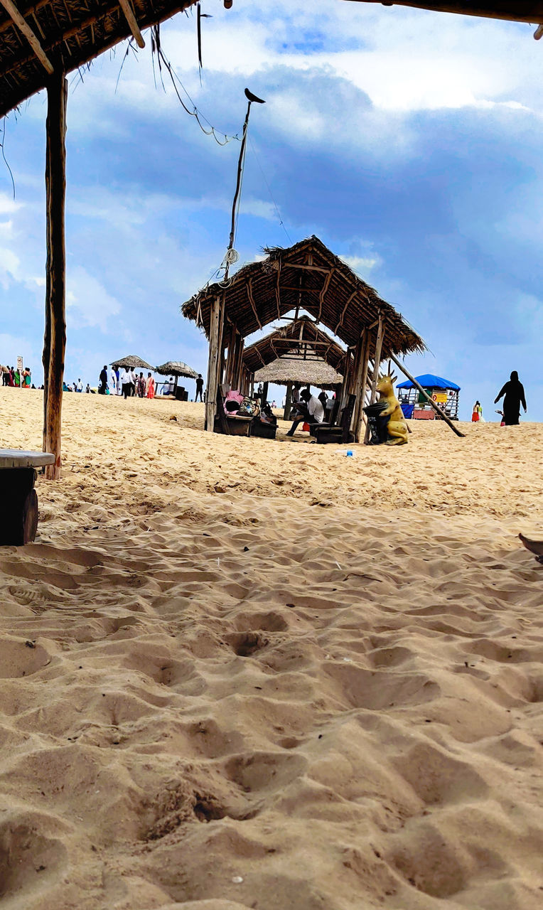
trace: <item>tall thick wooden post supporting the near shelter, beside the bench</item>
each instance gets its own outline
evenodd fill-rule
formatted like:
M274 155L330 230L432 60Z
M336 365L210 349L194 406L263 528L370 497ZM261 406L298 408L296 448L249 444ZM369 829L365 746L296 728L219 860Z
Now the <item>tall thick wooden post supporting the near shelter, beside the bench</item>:
M66 346L65 318L65 191L66 191L66 100L64 73L55 73L47 83L45 153L46 247L44 365L44 450L55 455L45 466L47 480L60 477L62 387Z

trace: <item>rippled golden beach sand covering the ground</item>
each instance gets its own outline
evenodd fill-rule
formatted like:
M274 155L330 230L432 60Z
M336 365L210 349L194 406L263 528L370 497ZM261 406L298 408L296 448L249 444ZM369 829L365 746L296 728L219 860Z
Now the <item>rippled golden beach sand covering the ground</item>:
M41 410L0 389L0 445ZM202 422L65 395L0 551L3 908L539 910L543 425Z

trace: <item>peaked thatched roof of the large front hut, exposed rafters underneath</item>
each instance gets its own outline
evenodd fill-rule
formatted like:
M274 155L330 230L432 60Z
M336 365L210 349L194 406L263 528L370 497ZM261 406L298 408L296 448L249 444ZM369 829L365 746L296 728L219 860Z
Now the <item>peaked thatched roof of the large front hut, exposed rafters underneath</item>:
M224 295L226 320L246 338L273 319L304 309L349 347L357 344L364 328L373 329L371 356L380 312L386 326L384 358L388 353L425 349L424 341L397 310L378 297L377 291L358 278L322 240L310 237L287 249L264 251L266 258L240 268L227 288L208 285L187 300L181 308L183 315L198 320L209 336L212 300Z

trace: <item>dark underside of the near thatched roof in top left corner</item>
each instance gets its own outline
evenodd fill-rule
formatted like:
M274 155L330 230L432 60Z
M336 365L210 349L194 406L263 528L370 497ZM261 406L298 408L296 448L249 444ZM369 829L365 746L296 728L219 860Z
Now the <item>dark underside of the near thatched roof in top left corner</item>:
M69 73L130 37L131 29L122 8L130 9L130 5L126 0L119 3L15 0L14 6L24 19L24 30L0 5L0 116L44 88L53 69ZM196 0L129 0L129 3L136 24L144 29L186 9Z

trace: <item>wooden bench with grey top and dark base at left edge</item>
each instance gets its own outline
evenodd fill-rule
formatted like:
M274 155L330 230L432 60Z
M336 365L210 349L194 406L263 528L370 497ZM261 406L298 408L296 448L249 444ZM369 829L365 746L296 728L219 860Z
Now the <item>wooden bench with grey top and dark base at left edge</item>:
M55 455L0 449L0 546L20 547L35 540L35 469L53 464Z

